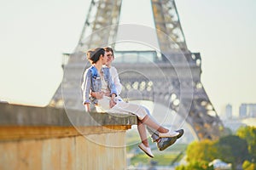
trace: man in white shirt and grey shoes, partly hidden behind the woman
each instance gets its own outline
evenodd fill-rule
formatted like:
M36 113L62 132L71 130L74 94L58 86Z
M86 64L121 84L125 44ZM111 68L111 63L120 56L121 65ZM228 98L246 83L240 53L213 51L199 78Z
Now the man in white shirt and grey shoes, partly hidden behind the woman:
M118 74L116 68L111 65L113 62L113 59L114 59L113 48L105 47L104 49L108 56L106 66L109 68L111 77L113 79L113 83L114 83L114 85L117 89L117 93L119 95L122 90L122 84L120 83L119 74ZM148 112L148 116L150 116L148 109L147 108L145 108L145 109ZM184 133L183 129L179 129L176 131L177 133L179 133L179 135L177 135L177 137L160 138L157 133L154 133L154 131L152 129L150 129L150 127L147 127L147 128L148 128L148 132L151 134L152 141L157 143L157 147L160 151L166 150L167 147L171 146L172 144L174 144L176 142L177 139L181 138Z

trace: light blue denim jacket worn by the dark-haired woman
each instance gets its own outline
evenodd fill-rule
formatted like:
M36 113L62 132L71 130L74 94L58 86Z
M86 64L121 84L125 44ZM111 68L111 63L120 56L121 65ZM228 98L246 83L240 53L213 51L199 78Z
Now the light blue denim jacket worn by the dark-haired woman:
M113 84L108 67L103 67L102 73L105 81L108 83L110 94L116 95L117 91ZM98 74L98 71L94 65L90 66L90 68L86 69L84 72L84 81L81 88L83 90L83 104L90 102L92 104L96 104L98 102L96 98L90 96L90 92L99 92L102 89L101 76Z

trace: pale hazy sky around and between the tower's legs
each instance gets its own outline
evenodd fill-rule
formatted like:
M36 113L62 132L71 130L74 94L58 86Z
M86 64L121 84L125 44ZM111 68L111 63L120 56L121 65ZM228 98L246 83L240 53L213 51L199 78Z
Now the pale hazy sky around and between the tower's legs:
M218 114L229 103L236 113L241 103L256 103L256 2L176 3L188 48L201 53L201 82ZM153 26L148 0L123 4L121 22ZM48 104L61 83L61 54L76 47L89 5L90 0L0 0L0 99Z

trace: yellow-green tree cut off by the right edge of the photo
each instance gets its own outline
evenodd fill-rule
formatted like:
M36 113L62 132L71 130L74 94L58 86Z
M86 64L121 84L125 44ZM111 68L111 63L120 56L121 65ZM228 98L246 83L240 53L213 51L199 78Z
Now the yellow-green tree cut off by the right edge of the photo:
M240 127L236 135L247 141L248 151L253 160L256 160L256 127Z

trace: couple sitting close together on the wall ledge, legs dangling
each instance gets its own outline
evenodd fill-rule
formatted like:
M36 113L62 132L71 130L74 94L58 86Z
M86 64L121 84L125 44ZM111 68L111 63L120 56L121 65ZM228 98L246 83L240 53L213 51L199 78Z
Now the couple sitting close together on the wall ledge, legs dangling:
M122 86L116 69L111 66L112 48L89 50L87 59L89 59L91 66L84 72L84 81L81 87L86 111L90 111L90 104L94 104L96 111L136 115L137 130L142 140L138 147L150 157L154 157L154 155L148 144L146 127L153 141L157 142L159 150L165 150L183 135L183 129L172 132L168 128L160 126L143 105L126 103L119 97Z

